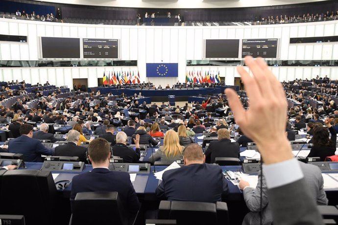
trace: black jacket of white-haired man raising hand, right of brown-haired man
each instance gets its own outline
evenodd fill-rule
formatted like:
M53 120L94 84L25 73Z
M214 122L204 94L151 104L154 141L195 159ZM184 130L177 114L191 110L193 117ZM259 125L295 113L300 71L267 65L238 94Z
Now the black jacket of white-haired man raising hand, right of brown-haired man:
M119 156L123 158L123 162L126 163L138 162L141 157L139 148L135 149L134 151L132 148L128 148L126 145L122 143L117 143L116 145L114 145L112 147L112 150L113 156Z

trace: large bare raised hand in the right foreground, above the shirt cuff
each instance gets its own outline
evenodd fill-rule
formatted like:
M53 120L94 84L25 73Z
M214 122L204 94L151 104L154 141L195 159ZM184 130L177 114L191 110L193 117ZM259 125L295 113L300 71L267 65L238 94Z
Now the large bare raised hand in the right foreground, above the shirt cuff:
M282 85L262 58L255 61L246 56L244 61L253 72L251 77L243 67L238 67L250 108L244 111L237 93L232 89L225 90L236 124L256 142L266 164L291 159L291 146L285 136L288 105Z

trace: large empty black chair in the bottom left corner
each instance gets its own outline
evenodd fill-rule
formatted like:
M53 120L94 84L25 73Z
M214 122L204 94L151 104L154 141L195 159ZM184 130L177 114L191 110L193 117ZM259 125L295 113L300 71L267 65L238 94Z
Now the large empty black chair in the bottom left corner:
M50 171L9 170L1 176L1 214L24 215L27 225L54 224L56 187Z

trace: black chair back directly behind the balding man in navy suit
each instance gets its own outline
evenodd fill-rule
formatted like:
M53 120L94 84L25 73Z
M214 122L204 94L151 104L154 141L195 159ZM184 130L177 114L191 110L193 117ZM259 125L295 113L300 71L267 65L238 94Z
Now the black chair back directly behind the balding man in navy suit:
M178 225L228 225L228 206L223 202L161 201L158 219L173 219Z

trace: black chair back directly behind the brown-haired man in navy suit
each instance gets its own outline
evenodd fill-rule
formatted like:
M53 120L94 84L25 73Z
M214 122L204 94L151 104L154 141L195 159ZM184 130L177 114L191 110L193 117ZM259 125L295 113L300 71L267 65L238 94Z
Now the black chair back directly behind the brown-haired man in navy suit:
M69 225L130 225L135 218L125 212L117 192L81 192L75 196Z

